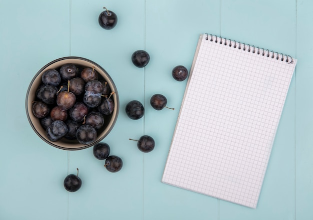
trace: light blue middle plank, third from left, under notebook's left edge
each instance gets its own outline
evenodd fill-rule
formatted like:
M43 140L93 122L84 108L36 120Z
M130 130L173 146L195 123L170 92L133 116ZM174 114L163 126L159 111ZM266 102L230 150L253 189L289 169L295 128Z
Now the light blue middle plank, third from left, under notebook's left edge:
M146 1L144 133L154 137L155 149L144 155L144 219L217 219L217 200L161 183L186 80L171 75L176 65L190 69L198 37L219 31L219 1ZM175 110L152 109L149 100L160 93Z

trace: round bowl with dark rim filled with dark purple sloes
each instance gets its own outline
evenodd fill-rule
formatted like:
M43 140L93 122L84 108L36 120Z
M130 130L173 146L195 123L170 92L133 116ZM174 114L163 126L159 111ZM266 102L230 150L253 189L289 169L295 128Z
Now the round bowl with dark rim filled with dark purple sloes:
M25 107L32 129L43 141L63 150L81 150L109 134L119 100L113 80L101 66L69 56L35 74Z

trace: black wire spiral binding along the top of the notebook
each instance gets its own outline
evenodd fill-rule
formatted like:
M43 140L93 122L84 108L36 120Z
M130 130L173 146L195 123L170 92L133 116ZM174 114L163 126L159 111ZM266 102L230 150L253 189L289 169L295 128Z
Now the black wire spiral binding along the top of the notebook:
M206 37L205 37L205 39L206 40L210 40L210 41L213 41L214 40L214 42L215 43L222 43L222 39L224 39L224 45L226 46L226 45L228 45L228 46L232 46L232 43L233 43L233 47L234 48L236 48L237 47L237 44L238 44L238 49L241 49L242 48L242 50L246 50L246 47L247 47L247 51L248 52L250 52L251 51L251 48L252 48L252 53L255 53L256 52L256 54L260 54L260 55L262 55L262 56L265 56L265 54L266 54L266 57L269 57L269 55L271 54L271 58L273 59L273 58L275 58L275 59L279 59L279 54L278 54L278 52L274 52L274 51L269 51L268 49L264 49L264 48L259 48L258 46L255 48L253 45L252 46L250 46L249 44L245 44L245 43L240 43L239 41L238 42L236 42L236 41L234 41L234 40L230 40L230 39L226 39L226 38L222 38L222 37L220 37L220 36L216 36L216 35L212 35L212 34L207 34L207 33L205 33L206 34ZM227 42L228 41L228 42ZM242 45L242 46L241 46ZM275 54L275 55L274 55ZM289 56L289 55L283 55L282 53L280 53L281 54L281 58L280 58L280 61L285 61L286 63L292 63L293 61L292 61L292 57L291 56ZM290 57L290 58L289 58Z

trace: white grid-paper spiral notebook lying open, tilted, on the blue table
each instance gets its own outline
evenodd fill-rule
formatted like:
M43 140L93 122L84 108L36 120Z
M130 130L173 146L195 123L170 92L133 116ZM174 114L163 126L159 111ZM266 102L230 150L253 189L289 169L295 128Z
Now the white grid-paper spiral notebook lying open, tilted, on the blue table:
M201 34L162 183L256 208L295 64Z

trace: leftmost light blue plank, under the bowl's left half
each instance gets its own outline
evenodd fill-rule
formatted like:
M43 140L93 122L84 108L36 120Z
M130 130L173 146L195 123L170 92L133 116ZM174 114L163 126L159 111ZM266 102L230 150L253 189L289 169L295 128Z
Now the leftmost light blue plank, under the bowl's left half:
M0 87L7 94L0 110L0 219L66 220L67 152L31 129L25 96L41 67L68 55L69 4L1 0L0 5ZM57 212L50 215L51 209Z

